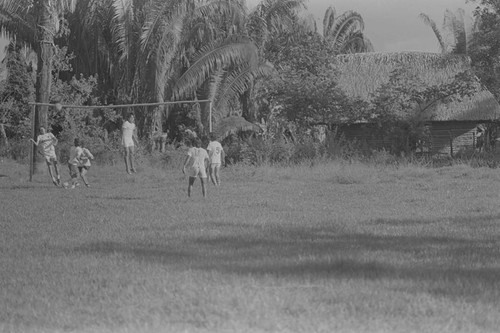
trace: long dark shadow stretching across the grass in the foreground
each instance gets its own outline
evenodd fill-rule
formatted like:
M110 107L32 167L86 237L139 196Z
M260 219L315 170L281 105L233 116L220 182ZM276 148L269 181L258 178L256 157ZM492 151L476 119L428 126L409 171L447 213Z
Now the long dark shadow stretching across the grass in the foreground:
M478 217L474 223L498 223L500 216ZM462 224L470 219L446 219ZM379 225L411 227L427 220L379 219ZM464 291L437 288L436 292L466 293L471 286L500 290L500 242L491 237L377 235L340 233L333 226L280 229L255 227L235 230L230 225L206 223L206 236L159 243L95 242L72 249L92 255L122 254L138 261L179 268L242 275L287 278L393 279L467 286ZM403 233L404 234L404 233ZM411 234L411 233L407 233ZM474 266L474 264L482 263ZM478 267L478 268L474 268ZM474 289L474 288L472 288Z

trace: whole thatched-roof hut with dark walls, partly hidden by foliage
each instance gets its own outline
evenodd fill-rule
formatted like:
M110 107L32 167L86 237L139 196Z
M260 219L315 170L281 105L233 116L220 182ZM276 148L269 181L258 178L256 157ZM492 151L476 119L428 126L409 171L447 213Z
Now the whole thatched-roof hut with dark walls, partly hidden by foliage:
M438 53L359 53L339 55L336 66L340 88L350 97L369 102L398 68L404 68L409 77L431 87L452 82L457 74L470 69L470 60L467 56ZM478 124L499 120L500 105L478 83L471 96L437 102L420 117L430 133L427 151L453 154L475 147ZM390 144L377 137L371 128L370 122L359 122L343 126L342 132L348 139L365 141L376 148Z

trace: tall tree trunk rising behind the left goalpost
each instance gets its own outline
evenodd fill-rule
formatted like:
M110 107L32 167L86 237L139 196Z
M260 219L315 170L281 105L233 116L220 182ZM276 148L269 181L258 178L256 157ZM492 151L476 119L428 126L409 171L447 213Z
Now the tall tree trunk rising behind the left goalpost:
M52 84L52 58L54 54L54 36L56 34L56 25L53 15L54 9L51 7L50 0L39 0L36 2L37 26L38 26L38 63L36 76L36 99L38 103L50 102L50 86ZM47 131L48 106L37 105L35 109L35 133L33 140L36 140L40 127L45 127ZM33 150L33 161L36 171L37 158L36 150Z

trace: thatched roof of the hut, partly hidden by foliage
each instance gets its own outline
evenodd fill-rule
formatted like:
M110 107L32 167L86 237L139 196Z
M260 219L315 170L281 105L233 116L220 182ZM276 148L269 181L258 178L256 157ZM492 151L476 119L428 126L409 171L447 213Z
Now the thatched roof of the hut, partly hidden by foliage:
M429 86L450 83L456 74L470 69L467 56L442 55L439 53L357 53L339 55L336 66L340 71L339 86L350 97L369 101L370 94L389 81L391 73L403 67ZM488 90L478 92L461 101L440 103L430 108L423 117L426 120L474 120L500 119L500 105Z

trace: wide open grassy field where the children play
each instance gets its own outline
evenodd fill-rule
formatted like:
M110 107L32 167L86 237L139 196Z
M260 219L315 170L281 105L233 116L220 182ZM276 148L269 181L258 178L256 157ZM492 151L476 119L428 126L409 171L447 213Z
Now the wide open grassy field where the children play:
M222 172L0 162L0 332L498 332L498 169Z

